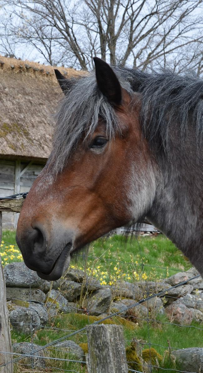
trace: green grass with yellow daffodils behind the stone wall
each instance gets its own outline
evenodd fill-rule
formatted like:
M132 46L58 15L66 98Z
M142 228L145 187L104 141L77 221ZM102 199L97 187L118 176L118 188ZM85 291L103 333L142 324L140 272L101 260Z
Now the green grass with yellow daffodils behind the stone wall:
M15 231L3 231L2 239L4 243L1 244L0 253L4 253L3 265L22 260L20 253L7 253L10 244L16 245ZM18 247L14 249L18 250ZM86 262L80 253L77 261L72 260L71 265L80 269L88 268L88 272L101 280L103 285L113 284L120 279L135 281L166 278L191 267L181 251L163 235L139 236L126 240L115 235L98 239L93 242L86 255Z

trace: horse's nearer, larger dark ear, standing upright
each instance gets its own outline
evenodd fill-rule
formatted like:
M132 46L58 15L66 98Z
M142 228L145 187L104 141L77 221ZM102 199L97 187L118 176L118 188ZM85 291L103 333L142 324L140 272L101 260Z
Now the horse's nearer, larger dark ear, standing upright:
M112 104L119 105L122 99L121 85L108 63L98 57L93 58L98 88Z

